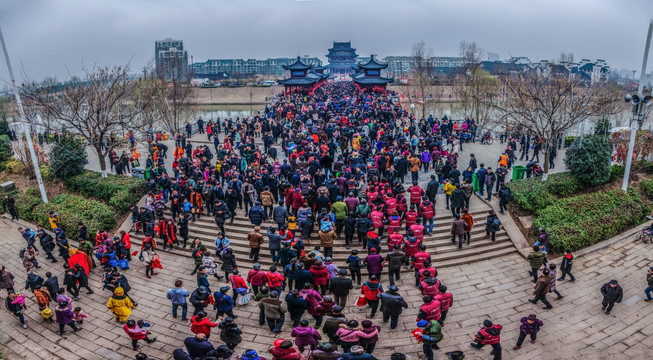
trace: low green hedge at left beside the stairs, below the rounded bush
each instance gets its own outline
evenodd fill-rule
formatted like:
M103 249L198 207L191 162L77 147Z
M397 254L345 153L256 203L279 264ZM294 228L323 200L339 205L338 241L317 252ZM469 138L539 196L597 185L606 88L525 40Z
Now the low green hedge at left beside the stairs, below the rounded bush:
M66 179L66 186L84 196L105 200L119 213L125 213L146 193L145 181L126 176L101 174L91 171Z

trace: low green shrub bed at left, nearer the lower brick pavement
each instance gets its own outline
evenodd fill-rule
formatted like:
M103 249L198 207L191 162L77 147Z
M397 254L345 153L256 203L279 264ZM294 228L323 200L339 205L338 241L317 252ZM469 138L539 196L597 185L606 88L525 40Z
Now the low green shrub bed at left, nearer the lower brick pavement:
M83 222L91 234L99 229L110 230L116 225L115 213L109 206L77 195L61 194L47 204L38 205L34 209L35 220L47 226L50 211L59 214L61 227L69 238L76 236L79 222Z

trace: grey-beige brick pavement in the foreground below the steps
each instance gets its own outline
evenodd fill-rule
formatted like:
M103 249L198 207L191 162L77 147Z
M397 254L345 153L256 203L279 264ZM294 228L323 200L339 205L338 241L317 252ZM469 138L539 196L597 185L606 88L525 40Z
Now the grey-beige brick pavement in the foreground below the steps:
M24 225L24 224L23 224ZM0 218L0 248L2 263L16 275L16 288L24 283L25 274L17 253L24 246L24 240L15 230L18 224ZM44 259L41 255L40 259ZM188 323L173 319L169 312L169 302L165 292L175 279L184 280L189 290L195 288L195 279L190 276L193 268L189 258L162 252L164 269L154 279L144 277L144 268L137 261L125 271L133 287L130 295L139 303L132 319L147 319L153 324L152 330L159 341L144 345L142 351L154 359L168 359L172 351L182 345L189 336ZM554 308L549 311L532 305L526 300L532 291L527 274L528 264L517 254L511 254L472 265L443 268L440 278L454 294L455 303L444 328L444 340L437 358L444 358L444 352L463 350L467 359L489 358L489 350L478 351L469 347L474 333L484 319L490 318L504 326L502 344L506 359L643 359L653 352L653 305L641 298L646 286L645 272L653 258L653 247L632 238L578 259L574 264L575 283L560 282L559 291L564 299L552 300ZM56 265L60 265L61 262ZM42 262L43 269L52 271L62 278L60 266L53 267ZM437 266L437 264L436 264ZM249 270L249 269L243 269ZM105 304L110 296L101 291L101 273L97 270L91 275L92 295L82 294L75 305L81 306L89 314L84 329L79 333L59 336L57 326L41 321L36 310L34 297L28 294L28 329L20 327L19 322L6 311L0 311L1 345L7 359L131 359L135 352L121 326L113 321ZM624 288L624 303L617 304L613 313L606 316L600 309L599 287L606 281L616 278ZM213 288L226 285L210 279ZM412 285L410 277L398 283L400 292L409 303L405 316L400 318L397 329L389 330L382 326L380 340L375 350L379 359L387 359L395 351L419 356L421 347L410 336L414 329L414 315L421 303L419 291ZM387 285L387 282L386 282ZM214 289L215 290L215 289ZM4 300L4 292L1 295ZM353 304L356 294L352 294L349 304ZM192 308L192 307L191 307ZM362 320L365 309L348 306L348 318ZM260 351L276 338L267 328L261 329L257 323L258 312L255 304L237 307L237 322L244 331L243 343L237 352L246 348ZM538 342L526 342L522 349L513 351L518 335L518 321L530 313L538 314L544 321ZM214 311L210 311L211 316ZM377 316L375 322L380 322ZM279 337L289 338L290 327L284 326ZM219 344L218 336L212 337ZM265 354L269 358L269 354Z

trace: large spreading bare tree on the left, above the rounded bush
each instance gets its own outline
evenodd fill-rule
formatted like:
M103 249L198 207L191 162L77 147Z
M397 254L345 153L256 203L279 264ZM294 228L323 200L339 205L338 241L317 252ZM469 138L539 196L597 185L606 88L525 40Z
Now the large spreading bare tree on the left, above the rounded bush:
M95 150L106 177L105 159L110 150L106 140L112 132L133 127L147 105L134 102L138 86L127 65L84 69L83 77L72 77L60 86L27 82L21 90L36 109L84 137Z

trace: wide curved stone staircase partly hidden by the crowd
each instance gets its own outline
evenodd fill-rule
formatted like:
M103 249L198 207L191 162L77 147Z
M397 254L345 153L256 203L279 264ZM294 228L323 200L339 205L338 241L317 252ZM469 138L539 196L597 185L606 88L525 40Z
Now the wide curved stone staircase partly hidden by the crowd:
M475 198L472 199L472 205L470 208L470 214L474 216L474 220L476 221L471 232L471 244L463 244L463 248L458 249L457 244L451 243L450 232L453 218L451 216L451 212L445 209L444 200L444 195L438 196L433 234L424 235L424 244L426 245L427 252L431 254L433 264L437 268L474 263L477 261L507 255L517 251L517 249L513 246L512 241L503 229L497 232L496 241L494 242L491 241L490 238L485 237L485 218L490 207L481 200ZM233 224L229 224L228 221L225 224L226 236L231 241L230 247L233 249L234 254L236 255L238 266L249 269L251 268L253 262L249 260L250 249L249 242L247 241L247 234L253 231L254 226L251 224L249 219L244 216L244 209L237 209L236 212L237 215L234 218ZM164 214L166 218L171 216L169 210L166 210ZM269 250L267 247L267 236L265 236L267 228L270 225L271 224L269 222L261 224L261 234L263 234L265 242L261 248L259 263L261 263L264 268L272 265ZM197 219L195 222L191 222L189 225L189 243L194 237L198 237L204 243L204 245L206 245L206 247L214 253L214 240L219 231L220 230L215 224L213 217L202 216L201 219ZM142 243L143 235L133 233L131 235L132 242L135 245L140 246ZM387 231L384 233L382 238L383 241L381 243L381 253L385 255L387 252ZM306 243L306 250L308 251L312 249L313 246L319 244L320 241L317 238L317 231L314 231L311 244ZM345 248L344 235L341 235L340 238L337 238L334 241L333 247L334 263L339 267L345 266L345 260L350 255L352 249L358 249L363 255L362 257L364 257L366 254L366 252L362 251L362 246L358 244L356 235L354 236L354 243L349 250ZM191 256L191 251L189 248L175 248L173 252L179 255L185 255L188 257Z

